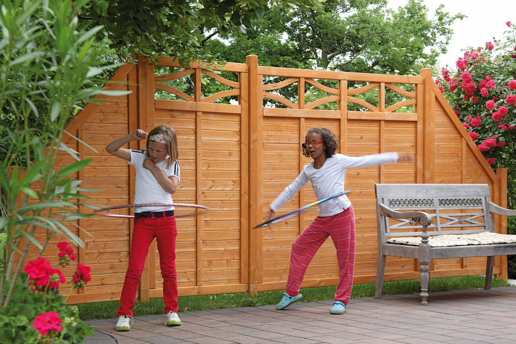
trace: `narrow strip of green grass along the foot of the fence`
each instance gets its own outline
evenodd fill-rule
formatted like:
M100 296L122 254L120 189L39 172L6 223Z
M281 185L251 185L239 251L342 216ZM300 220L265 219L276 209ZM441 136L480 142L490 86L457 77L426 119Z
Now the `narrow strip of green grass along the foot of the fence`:
M492 287L503 287L508 284L504 280L494 279ZM429 293L447 290L483 289L483 276L461 276L432 279L428 284ZM301 289L303 298L299 302L333 300L336 287L317 287ZM419 280L393 281L383 283L383 295L400 295L420 293ZM263 291L250 296L247 293L226 293L215 295L183 296L179 298L179 312L220 308L263 306L277 304L281 300L283 290ZM355 284L351 299L373 297L375 284ZM118 301L78 304L79 317L82 320L111 319L116 317L120 306ZM163 314L163 298L151 299L148 303L136 302L133 312L135 316Z

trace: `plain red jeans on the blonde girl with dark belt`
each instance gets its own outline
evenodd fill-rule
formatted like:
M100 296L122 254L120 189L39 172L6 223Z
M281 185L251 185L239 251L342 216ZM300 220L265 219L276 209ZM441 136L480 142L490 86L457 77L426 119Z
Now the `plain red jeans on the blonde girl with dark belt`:
M165 313L178 312L178 276L175 272L175 217L140 217L134 221L133 241L129 256L129 266L125 274L117 316L133 316L134 300L138 289L145 258L152 239L156 238L159 252L159 266L163 276L163 298Z

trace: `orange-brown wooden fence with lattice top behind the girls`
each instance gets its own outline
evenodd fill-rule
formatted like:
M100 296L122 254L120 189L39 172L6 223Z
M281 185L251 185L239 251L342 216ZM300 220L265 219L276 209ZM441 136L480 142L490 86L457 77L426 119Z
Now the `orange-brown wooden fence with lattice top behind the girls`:
M224 66L224 72L235 75L234 81L199 63L181 69L170 58L156 58L156 64L123 65L106 87L133 92L88 104L68 125L68 132L97 152L73 138L66 142L81 158L92 158L76 176L84 181L84 187L102 190L89 194L91 202L121 205L132 203L134 169L107 154L105 145L136 128L149 131L166 124L176 130L181 184L173 200L213 209L197 218L178 219L180 296L285 288L291 244L316 211L272 229L251 228L263 220L270 202L310 162L300 154L300 143L310 127L331 129L343 154L397 151L416 155L413 163L346 171L346 190L351 191L349 198L356 212L356 284L374 282L376 277L374 183L487 183L492 200L506 206L505 170L493 172L433 83L429 69L423 69L420 76L287 69L260 66L257 57L250 55L246 63ZM169 68L174 69L172 73L164 72ZM193 81L191 92L173 87L172 80L180 78ZM202 78L214 78L222 91L206 94ZM297 89L297 95L282 97L278 90L285 87ZM163 99L163 92L170 94L169 99ZM314 94L319 96L315 100ZM218 103L229 96L238 101ZM396 104L389 104L393 99ZM143 144L132 141L128 146L141 149ZM64 154L60 161L71 162ZM305 187L282 210L297 208L314 197L311 188ZM130 214L130 210L123 209L120 214ZM506 221L495 221L496 232L506 233ZM92 281L84 291L72 294L69 303L118 300L132 222L96 216L78 224L91 236L79 233L85 248L78 250L76 264L91 267ZM45 257L56 260L53 247L46 250ZM392 260L386 265L386 281L418 278L414 259L388 259ZM65 275L71 275L75 266L67 269ZM497 257L493 271L507 279L506 256ZM437 259L430 271L432 277L484 272L484 257ZM337 281L335 249L328 240L315 255L302 287L336 285ZM63 293L68 290L62 288ZM159 297L163 297L162 279L153 242L139 298Z

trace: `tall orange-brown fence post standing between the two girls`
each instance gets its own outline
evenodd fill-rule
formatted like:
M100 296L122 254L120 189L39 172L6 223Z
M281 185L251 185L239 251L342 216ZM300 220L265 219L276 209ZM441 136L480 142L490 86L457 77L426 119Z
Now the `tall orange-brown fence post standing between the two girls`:
M262 282L262 228L251 229L262 222L263 215L263 104L262 83L258 75L258 57L246 56L249 75L249 286L258 292Z

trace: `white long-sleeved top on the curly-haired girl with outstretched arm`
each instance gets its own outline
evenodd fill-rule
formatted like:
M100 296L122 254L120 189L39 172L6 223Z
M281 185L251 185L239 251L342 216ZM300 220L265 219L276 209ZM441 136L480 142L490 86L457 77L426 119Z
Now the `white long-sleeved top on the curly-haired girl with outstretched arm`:
M396 162L397 153L380 153L364 156L347 156L334 154L327 158L320 169L314 168L313 161L303 167L296 180L270 204L274 211L294 197L296 192L310 181L317 200L321 200L344 191L344 175L348 168L381 165ZM319 216L332 216L349 208L351 201L346 195L319 204Z

